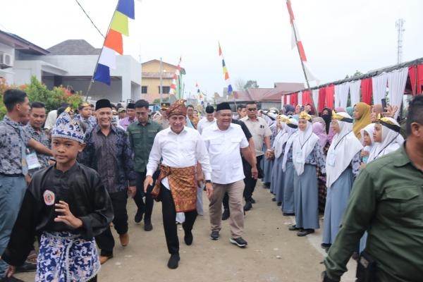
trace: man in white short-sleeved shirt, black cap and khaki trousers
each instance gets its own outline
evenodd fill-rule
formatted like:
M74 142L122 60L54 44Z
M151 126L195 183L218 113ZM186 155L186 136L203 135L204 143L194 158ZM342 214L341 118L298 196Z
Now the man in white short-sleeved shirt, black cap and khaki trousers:
M221 230L222 200L228 192L231 216L231 243L238 247L245 247L247 241L242 237L244 228L243 191L244 171L243 157L248 161L251 175L257 179L258 171L255 166L255 155L248 147L249 143L240 125L231 123L232 111L227 102L216 106L216 123L204 128L202 137L209 151L212 165L213 195L210 197L209 213L212 240L219 239Z

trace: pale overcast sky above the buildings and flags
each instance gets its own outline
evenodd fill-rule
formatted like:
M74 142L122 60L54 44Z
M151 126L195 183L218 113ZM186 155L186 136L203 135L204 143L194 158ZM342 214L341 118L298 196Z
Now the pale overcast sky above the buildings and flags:
M105 35L117 0L79 0ZM291 0L309 66L321 84L397 63L396 20L405 20L403 61L423 57L422 0ZM75 0L2 0L0 29L48 49L66 39L101 48L103 38ZM291 49L285 0L142 0L124 54L185 68L185 93L222 92L218 41L233 87L238 80L305 82ZM93 66L94 68L94 66ZM310 86L315 86L312 82Z

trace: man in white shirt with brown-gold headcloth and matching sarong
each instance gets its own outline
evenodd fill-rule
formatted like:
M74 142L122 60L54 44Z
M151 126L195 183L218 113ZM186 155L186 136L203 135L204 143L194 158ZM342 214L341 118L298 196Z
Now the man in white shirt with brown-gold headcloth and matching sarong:
M197 218L197 181L195 166L202 166L207 196L211 197L212 168L204 141L197 130L185 126L187 108L180 99L168 109L170 128L157 133L149 154L144 190L151 187L153 173L160 164L160 175L152 190L153 197L161 200L164 235L168 252L168 268L176 269L179 262L179 240L176 228L176 212L185 212L184 241L192 244L192 226Z

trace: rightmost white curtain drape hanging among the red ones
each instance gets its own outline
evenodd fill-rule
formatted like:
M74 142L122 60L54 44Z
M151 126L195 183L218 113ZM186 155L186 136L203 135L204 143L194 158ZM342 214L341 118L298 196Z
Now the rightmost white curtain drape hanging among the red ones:
M408 68L400 68L396 71L388 73L388 87L389 87L389 104L401 106L404 97L405 83L407 82ZM399 110L395 114L397 118Z

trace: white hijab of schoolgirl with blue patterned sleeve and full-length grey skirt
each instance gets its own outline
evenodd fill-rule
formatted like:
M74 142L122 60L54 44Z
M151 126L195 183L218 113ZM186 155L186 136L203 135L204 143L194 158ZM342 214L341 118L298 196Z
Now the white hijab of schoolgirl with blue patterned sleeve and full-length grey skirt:
M319 137L313 133L312 121L307 121L305 130L298 130L297 137L293 140L293 163L295 171L300 176L304 172L305 159L313 151Z

